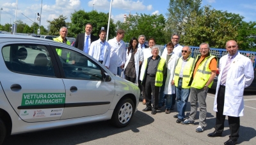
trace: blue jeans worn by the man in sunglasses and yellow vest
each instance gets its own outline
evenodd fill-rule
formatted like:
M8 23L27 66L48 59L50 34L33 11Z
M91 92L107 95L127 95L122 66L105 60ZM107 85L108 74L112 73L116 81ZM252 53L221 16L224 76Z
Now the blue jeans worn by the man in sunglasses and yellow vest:
M177 97L177 111L178 118L183 120L185 117L185 110L188 102L190 89L182 88L182 79L179 79L178 87L176 87L176 97Z

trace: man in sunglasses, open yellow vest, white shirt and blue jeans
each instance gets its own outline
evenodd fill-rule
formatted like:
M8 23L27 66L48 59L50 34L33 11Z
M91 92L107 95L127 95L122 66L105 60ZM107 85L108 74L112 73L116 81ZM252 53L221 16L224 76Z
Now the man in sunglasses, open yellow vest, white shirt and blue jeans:
M178 118L176 123L184 121L185 110L188 102L188 97L190 93L189 81L192 76L192 69L195 64L195 59L189 57L191 54L191 48L189 46L184 46L182 48L182 57L177 61L175 67L173 84L176 86L176 96L177 96L177 112L173 117Z

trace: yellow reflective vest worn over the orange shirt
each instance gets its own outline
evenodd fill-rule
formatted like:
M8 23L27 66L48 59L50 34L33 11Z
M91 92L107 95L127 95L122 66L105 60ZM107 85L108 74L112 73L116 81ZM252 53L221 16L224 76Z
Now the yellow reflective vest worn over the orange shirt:
M201 55L198 55L196 57L196 60ZM210 55L209 57L206 57L201 64L199 64L198 69L195 74L195 78L193 79L193 82L191 84L191 87L201 89L205 86L207 81L209 80L211 76L211 69L209 68L209 64L212 59L216 58L213 55ZM217 58L216 58L217 60ZM209 88L211 88L213 81L208 85Z

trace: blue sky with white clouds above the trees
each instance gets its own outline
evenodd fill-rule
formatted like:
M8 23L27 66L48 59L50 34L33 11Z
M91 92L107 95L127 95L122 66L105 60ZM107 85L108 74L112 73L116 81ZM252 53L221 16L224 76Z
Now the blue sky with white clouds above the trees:
M15 20L15 8L17 0L0 0L1 24L10 24ZM109 12L110 0L18 0L16 20L22 20L28 25L32 25L35 20L35 13L40 13L41 2L42 18L41 25L47 27L47 20L53 20L60 15L68 17L75 10L84 11L102 11ZM170 0L113 0L111 18L116 22L124 21L124 15L145 13L145 14L163 14L166 17ZM94 5L93 5L94 3ZM237 13L244 17L244 21L256 21L256 1L255 0L203 0L202 6L211 5L216 10L228 11L229 13ZM24 17L24 15L28 18ZM37 18L37 15L36 15ZM39 23L39 21L36 20Z

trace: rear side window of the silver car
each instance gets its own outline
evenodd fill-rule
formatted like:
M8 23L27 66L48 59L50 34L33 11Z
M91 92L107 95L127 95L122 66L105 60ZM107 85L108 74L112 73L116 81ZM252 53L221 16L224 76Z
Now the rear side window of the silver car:
M55 76L48 50L42 45L8 45L2 49L6 67L13 72Z

